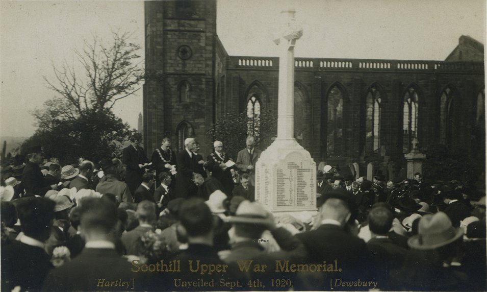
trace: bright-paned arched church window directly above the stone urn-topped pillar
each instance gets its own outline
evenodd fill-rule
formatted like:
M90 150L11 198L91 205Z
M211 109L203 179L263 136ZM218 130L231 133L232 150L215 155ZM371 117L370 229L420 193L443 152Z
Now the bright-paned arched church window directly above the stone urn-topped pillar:
M404 153L411 150L411 142L418 137L418 93L413 87L409 87L404 93L402 111L402 150Z

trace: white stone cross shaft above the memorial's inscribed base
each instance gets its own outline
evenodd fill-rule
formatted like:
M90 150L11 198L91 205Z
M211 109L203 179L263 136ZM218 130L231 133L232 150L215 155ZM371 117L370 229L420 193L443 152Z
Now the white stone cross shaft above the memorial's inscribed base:
M294 9L281 11L285 17L285 28L274 43L279 46L279 92L277 102L277 138L294 139L294 46L303 35L296 23Z

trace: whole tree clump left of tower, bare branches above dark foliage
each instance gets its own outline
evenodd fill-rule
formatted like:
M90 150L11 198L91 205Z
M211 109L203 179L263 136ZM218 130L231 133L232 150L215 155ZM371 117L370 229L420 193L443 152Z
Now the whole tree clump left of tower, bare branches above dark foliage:
M118 155L121 142L130 134L129 125L112 112L114 104L140 89L144 69L130 42L130 33L112 33L113 40L94 36L74 50L76 65L53 66L55 80L44 77L56 96L33 115L36 133L22 144L41 144L48 156L70 163L80 156L97 162ZM118 141L115 142L115 141Z

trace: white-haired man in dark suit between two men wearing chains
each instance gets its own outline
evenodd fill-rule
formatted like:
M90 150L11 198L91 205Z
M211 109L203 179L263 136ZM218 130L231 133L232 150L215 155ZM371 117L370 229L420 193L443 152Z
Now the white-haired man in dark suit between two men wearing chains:
M186 138L184 140L184 149L176 156L177 174L176 174L176 197L188 198L191 181L195 174L195 169L198 161L196 155L193 153L193 148L196 140L194 138Z

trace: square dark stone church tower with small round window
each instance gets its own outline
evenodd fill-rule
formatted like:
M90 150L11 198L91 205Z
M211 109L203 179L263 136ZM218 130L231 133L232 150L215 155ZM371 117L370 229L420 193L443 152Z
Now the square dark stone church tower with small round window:
M145 2L144 142L148 155L162 138L184 148L195 137L210 153L206 131L215 99L216 1Z

